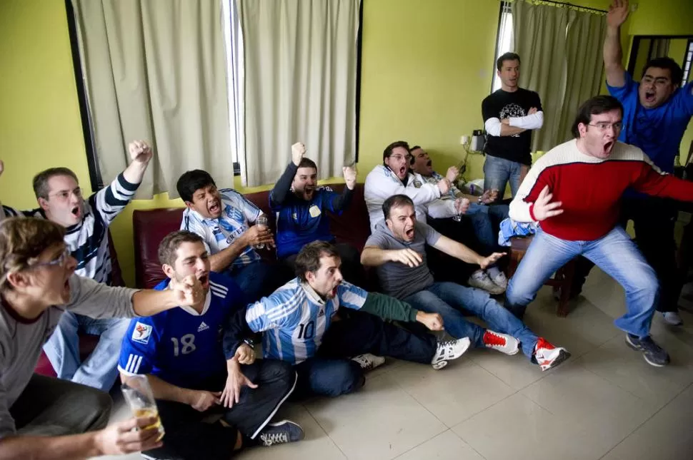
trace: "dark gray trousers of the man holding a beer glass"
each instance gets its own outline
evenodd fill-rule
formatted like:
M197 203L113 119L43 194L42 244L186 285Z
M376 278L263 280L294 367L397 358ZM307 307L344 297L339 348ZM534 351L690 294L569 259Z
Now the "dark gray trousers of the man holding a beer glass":
M98 389L34 374L9 412L18 434L62 436L104 428L112 405Z

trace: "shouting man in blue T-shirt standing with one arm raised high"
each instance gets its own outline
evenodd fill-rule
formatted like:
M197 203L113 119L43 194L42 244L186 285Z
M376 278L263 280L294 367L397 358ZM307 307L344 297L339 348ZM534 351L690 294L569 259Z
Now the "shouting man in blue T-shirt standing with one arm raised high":
M619 140L644 150L659 169L672 173L674 158L693 116L693 83L682 84L681 67L671 58L654 58L645 64L639 83L622 64L620 27L628 18L628 0L614 0L607 14L604 69L607 88L623 104L623 129ZM610 128L609 128L610 129ZM633 220L637 244L659 277L659 303L668 324L681 325L677 302L682 283L677 275L674 223L677 209L671 200L624 195L621 223ZM579 260L572 296L582 290L592 262Z

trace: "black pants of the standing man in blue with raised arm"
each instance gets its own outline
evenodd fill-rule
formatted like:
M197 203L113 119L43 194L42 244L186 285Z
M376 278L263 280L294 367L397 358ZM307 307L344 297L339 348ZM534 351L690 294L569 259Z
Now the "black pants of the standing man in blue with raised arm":
M678 310L679 295L683 280L676 262L676 242L674 242L674 223L677 210L672 200L664 198L626 198L623 200L619 225L626 228L633 221L635 239L640 252L659 280L659 303L657 311L675 312ZM585 257L576 259L572 295L582 291L585 278L594 264Z

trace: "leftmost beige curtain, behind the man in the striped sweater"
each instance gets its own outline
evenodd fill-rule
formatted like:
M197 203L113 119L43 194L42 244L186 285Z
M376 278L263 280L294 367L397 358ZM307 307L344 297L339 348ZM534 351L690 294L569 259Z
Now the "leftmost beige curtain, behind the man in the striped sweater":
M224 39L218 0L72 0L99 168L126 168L127 143L154 160L138 198L194 168L233 183Z

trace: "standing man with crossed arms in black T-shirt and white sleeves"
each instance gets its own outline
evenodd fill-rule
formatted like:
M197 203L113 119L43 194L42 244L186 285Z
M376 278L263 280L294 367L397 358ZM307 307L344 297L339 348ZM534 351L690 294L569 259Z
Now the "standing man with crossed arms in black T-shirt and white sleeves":
M484 190L499 190L502 200L507 183L514 197L527 174L532 157L532 130L544 125L539 94L518 86L520 58L505 53L496 62L501 88L482 101L488 134L484 152Z

